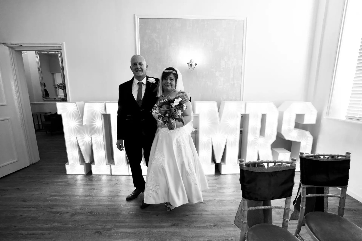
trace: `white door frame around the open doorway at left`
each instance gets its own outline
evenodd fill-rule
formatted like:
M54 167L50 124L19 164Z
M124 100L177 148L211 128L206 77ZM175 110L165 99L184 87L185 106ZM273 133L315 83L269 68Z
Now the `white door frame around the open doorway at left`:
M39 150L37 139L35 136L35 130L33 126L33 117L31 116L31 111L29 112L27 108L30 106L29 101L29 92L28 88L21 88L21 81L18 78L18 71L22 68L24 69L24 65L20 66L15 57L15 51L41 51L41 50L61 50L63 55L63 68L64 68L64 78L67 86L67 98L68 102L71 102L71 94L69 88L68 81L68 67L67 67L67 54L65 42L63 43L20 43L20 44L3 44L4 46L9 48L10 55L10 63L12 66L13 72L13 82L15 86L16 99L18 100L17 104L20 109L19 117L20 122L22 124L22 130L25 136L25 145L26 151L29 156L29 164L33 164L40 160L39 158ZM29 103L28 103L29 102Z

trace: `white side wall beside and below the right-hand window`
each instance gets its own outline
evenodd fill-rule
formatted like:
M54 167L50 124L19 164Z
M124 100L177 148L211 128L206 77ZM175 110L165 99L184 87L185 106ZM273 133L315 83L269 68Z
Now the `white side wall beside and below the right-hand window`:
M350 5L357 1L359 0L349 0L348 4ZM362 123L326 117L344 1L325 2L327 2L327 11L324 16L325 27L322 33L321 47L320 51L313 53L319 57L319 66L317 68L315 83L309 88L310 91L313 91L313 93L310 94L310 101L318 110L317 123L308 128L312 136L315 137L312 153L344 154L345 152L351 152L351 169L347 193L362 202L362 162L360 160L362 156ZM351 4L351 6L352 5L353 4ZM357 56L353 58L354 61L352 62L354 62L355 65ZM337 88L336 93L339 92L340 89ZM344 106L344 108L346 107L347 106ZM346 205L348 205L348 203Z

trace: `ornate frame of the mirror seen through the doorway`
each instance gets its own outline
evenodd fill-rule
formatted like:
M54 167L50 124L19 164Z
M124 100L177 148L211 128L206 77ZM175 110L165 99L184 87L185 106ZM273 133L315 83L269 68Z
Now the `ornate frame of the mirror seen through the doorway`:
M43 100L62 100L62 101L67 101L67 91L63 90L64 93L64 98L63 97L55 97L55 98L51 98L51 97L45 97L45 91L44 91L44 82L43 82L43 76L42 76L42 70L40 67L40 59L39 59L39 54L58 54L58 59L59 59L59 65L60 65L60 72L62 75L62 83L64 86L66 86L66 82L65 82L65 77L64 77L64 68L63 68L63 56L62 56L62 51L35 51L35 57L37 58L37 66L38 66L38 74L39 74L39 81L40 81L40 88L42 90L42 95L43 95Z

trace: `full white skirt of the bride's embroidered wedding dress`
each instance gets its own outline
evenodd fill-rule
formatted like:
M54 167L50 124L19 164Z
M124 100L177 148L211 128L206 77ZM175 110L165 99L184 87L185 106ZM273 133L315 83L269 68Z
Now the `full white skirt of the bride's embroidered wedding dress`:
M148 163L145 203L169 202L173 206L202 202L208 189L206 176L190 135L189 124L168 130L156 114L157 132Z

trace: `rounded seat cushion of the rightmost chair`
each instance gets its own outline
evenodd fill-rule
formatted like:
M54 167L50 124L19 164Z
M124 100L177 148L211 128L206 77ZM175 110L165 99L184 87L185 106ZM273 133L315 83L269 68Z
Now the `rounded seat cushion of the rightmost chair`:
M362 241L362 229L336 214L309 212L304 217L304 222L311 236L317 237L320 241Z

